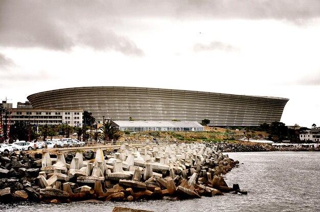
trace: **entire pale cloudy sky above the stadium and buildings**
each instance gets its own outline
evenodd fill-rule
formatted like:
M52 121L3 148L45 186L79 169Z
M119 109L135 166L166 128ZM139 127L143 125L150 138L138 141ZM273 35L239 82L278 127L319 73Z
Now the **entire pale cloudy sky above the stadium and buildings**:
M289 98L320 126L320 1L0 0L0 98L133 86Z

